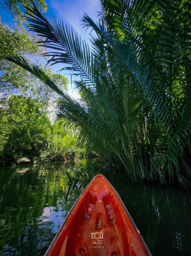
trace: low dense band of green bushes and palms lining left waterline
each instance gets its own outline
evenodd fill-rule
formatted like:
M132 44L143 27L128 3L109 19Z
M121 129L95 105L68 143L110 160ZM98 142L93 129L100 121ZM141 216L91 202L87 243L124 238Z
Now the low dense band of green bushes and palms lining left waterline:
M9 98L1 118L0 164L61 161L83 157L77 143L78 133L63 124L50 123L37 100L22 95Z

